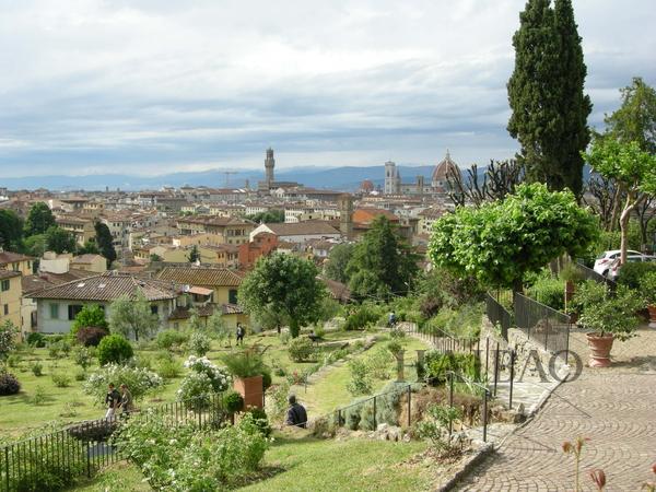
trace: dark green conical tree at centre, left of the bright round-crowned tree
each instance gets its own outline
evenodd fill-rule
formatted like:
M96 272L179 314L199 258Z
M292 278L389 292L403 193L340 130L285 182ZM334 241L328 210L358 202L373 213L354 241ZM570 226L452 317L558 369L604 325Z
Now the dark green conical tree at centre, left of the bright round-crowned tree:
M355 245L348 263L351 293L360 300L405 295L419 270L417 261L418 256L397 234L393 223L378 215Z

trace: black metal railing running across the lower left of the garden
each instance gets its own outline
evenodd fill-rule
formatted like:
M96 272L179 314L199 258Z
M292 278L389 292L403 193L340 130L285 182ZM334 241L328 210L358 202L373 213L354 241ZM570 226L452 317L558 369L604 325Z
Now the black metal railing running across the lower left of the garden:
M0 491L44 490L44 483L50 483L46 489L71 485L75 479L90 478L97 469L122 459L109 438L124 419L148 419L154 413L169 417L173 425L207 427L227 418L222 401L222 394L203 395L129 415L75 423L2 446Z

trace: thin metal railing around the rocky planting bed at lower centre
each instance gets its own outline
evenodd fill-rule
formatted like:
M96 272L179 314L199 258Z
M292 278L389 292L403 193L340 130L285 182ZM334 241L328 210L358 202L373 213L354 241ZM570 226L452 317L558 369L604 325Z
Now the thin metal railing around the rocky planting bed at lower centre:
M491 398L491 391L490 389L488 389L487 386L480 384L480 383L476 383L471 379L469 379L468 377L461 375L461 374L457 374L454 373L453 371L447 371L447 384L448 384L448 388L449 388L449 393L448 393L448 406L450 408L454 407L454 386L456 383L462 383L465 385L467 385L469 388L473 388L475 391L479 393L481 400L482 400L482 410L481 410L481 426L482 426L482 434L483 434L483 441L487 442L488 440L488 420L489 420L489 415L488 415L488 408L489 408L489 400ZM430 386L430 380L429 382L417 382L417 383L408 383L406 385L399 385L398 387L396 387L395 389L390 390L390 391L386 391L386 393L380 393L377 395L374 395L372 397L368 398L364 398L355 403L351 403L347 407L340 407L337 410L335 410L335 414L333 414L333 421L335 424L337 426L344 426L344 425L349 425L349 410L350 409L355 409L356 412L351 412L354 414L358 414L358 423L361 423L361 417L364 410L364 413L367 414L368 419L371 419L371 429L368 430L376 430L378 423L393 423L396 425L397 422L389 422L389 412L387 412L387 410L389 409L389 400L394 399L396 400L396 403L400 405L400 401L402 399L402 397L406 397L406 401L402 403L406 406L406 421L405 422L398 422L398 424L400 425L407 425L408 427L410 427L412 425L412 393L415 390L419 390L423 387ZM417 414L417 413L415 413ZM465 427L465 422L460 422L460 425L462 427ZM449 432L449 437L452 435L452 431L453 429L449 427L448 432Z

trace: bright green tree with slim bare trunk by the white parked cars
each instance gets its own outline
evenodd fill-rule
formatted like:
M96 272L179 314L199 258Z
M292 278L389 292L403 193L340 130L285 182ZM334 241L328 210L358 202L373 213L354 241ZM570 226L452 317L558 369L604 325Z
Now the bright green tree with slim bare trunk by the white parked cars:
M644 151L636 141L596 139L584 154L595 172L612 179L625 197L620 214L620 262L626 262L631 212L647 197L656 195L656 155Z

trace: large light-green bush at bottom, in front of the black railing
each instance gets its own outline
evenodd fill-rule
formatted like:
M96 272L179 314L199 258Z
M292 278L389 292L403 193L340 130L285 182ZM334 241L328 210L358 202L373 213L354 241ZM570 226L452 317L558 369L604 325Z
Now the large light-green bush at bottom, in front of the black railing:
M257 470L269 442L248 413L236 425L218 431L150 413L128 420L114 437L150 485L167 491L232 489Z

